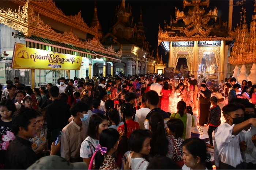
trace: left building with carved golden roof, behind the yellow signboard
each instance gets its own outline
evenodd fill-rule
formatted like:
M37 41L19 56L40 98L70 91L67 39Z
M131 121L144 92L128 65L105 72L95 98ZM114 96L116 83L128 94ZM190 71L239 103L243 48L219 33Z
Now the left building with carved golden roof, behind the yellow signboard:
M96 4L94 6L94 16L89 27L84 22L81 11L75 16L67 16L61 9L56 7L52 0L1 1L0 26L3 28L0 30L0 34L4 37L0 40L0 45L3 49L0 50L1 58L4 57L2 54L9 55L7 54L8 51L9 53L13 51L15 43L26 44L27 47L39 50L45 50L42 48L46 45L53 52L62 50L67 51L65 55L76 54L82 56L81 70L74 71L74 74L70 74L71 71L69 70L62 72L62 75L69 78L74 76L80 78L89 76L91 78L95 74L93 73L93 61L103 62L101 70L97 72L98 74L103 76L107 73L113 75L113 63L120 63L122 59L121 46L116 50L112 47L105 48L99 41L103 33L97 17ZM3 42L3 40L5 41ZM12 56L12 54L10 53L9 56ZM10 57L9 60L11 60ZM5 64L5 66L7 65ZM28 80L27 82L29 83L26 84L31 84L33 87L37 86L38 82L36 82L37 80L33 82L34 78L38 79L39 82L47 83L51 78L41 80L41 76L47 77L46 73L48 72L47 70L41 72L39 70L31 70L32 76L30 80L32 82Z

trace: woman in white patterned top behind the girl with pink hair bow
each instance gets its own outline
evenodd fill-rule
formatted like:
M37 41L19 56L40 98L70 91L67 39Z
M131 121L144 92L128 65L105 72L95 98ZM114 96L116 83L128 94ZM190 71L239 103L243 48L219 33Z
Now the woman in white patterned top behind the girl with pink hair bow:
M90 164L95 148L99 144L99 135L104 129L108 129L107 117L101 113L93 114L90 117L87 138L83 141L80 149L80 157L87 165Z

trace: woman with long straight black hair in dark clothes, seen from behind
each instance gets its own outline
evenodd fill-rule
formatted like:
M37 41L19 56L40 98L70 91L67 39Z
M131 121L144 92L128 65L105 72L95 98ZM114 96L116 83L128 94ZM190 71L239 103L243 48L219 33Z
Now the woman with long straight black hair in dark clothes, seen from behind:
M149 160L159 155L173 159L174 137L166 136L163 117L159 113L153 112L148 119L148 124L149 130L152 133L150 139L151 151L148 155Z

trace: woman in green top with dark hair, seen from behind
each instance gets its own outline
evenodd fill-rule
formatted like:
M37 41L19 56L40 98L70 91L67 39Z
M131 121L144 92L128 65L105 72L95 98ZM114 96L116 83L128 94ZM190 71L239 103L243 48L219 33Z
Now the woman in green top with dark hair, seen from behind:
M191 137L191 128L195 125L195 119L191 114L187 113L187 106L184 101L180 101L177 104L177 113L173 113L170 119L180 119L184 124L184 131L182 139L188 139ZM189 126L188 126L189 125Z

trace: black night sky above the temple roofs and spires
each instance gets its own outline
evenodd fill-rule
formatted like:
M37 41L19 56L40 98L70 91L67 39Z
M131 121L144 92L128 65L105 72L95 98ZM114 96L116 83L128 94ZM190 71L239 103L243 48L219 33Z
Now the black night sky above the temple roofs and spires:
M81 10L81 15L84 21L90 25L91 19L93 17L94 1L54 1L56 6L65 13L65 15L75 15ZM102 31L104 35L109 32L110 20L113 20L115 15L116 6L121 4L122 1L96 1L98 9L98 18L102 25ZM166 23L170 24L170 15L175 17L175 7L182 10L182 1L125 1L125 6L132 6L132 16L133 21L138 25L140 17L140 8L142 8L142 19L144 22L144 29L146 33L146 38L149 42L150 52L154 49L156 52L158 44L158 26L164 27L164 20ZM236 0L233 1L236 4ZM246 0L246 23L250 23L252 20L254 1ZM211 0L207 11L218 9L218 16L221 20L226 22L228 20L229 11L229 1L228 0ZM244 5L233 7L233 19L232 28L236 27L236 24L240 23L240 11ZM243 19L244 20L244 19ZM242 21L243 21L242 20ZM248 24L248 27L249 24ZM163 63L168 63L168 53L165 55L165 51L161 46L159 46L159 55L163 55ZM156 53L154 54L156 56Z

